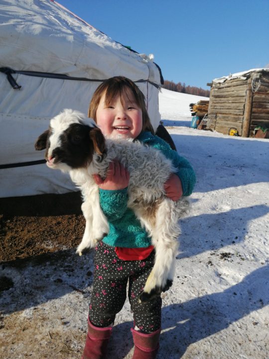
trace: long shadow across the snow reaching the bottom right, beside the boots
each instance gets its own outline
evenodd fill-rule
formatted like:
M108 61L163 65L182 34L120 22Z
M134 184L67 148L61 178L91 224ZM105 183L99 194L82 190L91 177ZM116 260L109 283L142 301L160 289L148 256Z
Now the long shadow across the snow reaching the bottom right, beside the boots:
M269 266L265 266L223 292L163 307L162 329L166 331L161 335L160 358L178 359L192 343L228 328L268 304ZM175 347L177 353L173 351Z

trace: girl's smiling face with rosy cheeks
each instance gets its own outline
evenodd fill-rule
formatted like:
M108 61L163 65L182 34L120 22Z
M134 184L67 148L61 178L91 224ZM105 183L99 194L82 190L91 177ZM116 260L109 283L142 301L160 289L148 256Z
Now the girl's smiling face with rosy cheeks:
M96 111L96 123L105 137L136 138L142 131L142 110L137 106L132 91L126 89L111 103L106 103L106 93Z

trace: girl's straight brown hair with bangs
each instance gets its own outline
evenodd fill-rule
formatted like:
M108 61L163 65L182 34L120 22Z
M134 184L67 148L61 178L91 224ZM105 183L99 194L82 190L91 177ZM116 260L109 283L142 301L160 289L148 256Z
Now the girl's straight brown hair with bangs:
M111 77L98 86L90 102L88 117L91 117L96 122L96 111L104 93L106 93L105 102L109 105L113 99L119 95L122 100L123 93L128 96L127 89L132 92L137 106L139 106L142 111L142 131L149 131L154 135L154 130L146 111L143 93L132 80L124 76Z

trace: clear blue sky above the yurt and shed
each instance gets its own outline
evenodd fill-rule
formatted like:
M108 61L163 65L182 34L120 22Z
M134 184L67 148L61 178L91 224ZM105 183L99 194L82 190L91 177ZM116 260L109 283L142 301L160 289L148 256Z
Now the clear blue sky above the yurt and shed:
M207 87L214 78L269 66L269 0L58 0L139 53L165 80Z

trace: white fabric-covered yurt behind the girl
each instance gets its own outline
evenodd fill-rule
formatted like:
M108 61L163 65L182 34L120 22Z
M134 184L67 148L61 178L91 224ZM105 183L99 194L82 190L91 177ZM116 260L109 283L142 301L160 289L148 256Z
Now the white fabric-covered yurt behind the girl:
M68 175L44 165L34 142L63 109L87 115L95 89L118 75L139 86L156 129L163 80L148 56L56 1L0 1L0 197L76 190Z

